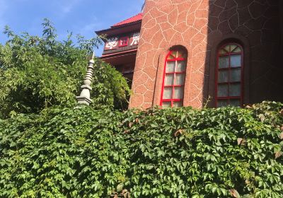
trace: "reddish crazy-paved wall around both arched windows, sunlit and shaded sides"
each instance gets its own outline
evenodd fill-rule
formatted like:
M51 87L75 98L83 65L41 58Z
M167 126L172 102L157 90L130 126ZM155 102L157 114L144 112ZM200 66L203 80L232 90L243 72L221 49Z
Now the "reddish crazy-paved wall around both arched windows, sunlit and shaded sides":
M214 95L217 47L239 42L245 54L245 103L282 99L277 0L147 0L130 107L159 105L166 54L188 51L184 105L202 107Z

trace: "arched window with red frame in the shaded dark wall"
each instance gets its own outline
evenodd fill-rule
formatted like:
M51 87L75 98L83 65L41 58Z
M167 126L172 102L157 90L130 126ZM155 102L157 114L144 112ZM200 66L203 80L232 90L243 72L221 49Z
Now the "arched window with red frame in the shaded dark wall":
M229 43L218 51L215 83L216 107L243 104L243 48Z

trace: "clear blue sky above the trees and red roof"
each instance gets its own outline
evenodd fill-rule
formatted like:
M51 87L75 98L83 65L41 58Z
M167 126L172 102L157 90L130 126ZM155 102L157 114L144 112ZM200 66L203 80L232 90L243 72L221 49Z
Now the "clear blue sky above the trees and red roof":
M68 31L87 39L94 31L132 17L141 11L144 0L0 0L0 43L7 40L3 34L8 25L15 33L42 35L43 18L48 18L57 29L59 40L67 38ZM101 55L103 47L96 50Z

